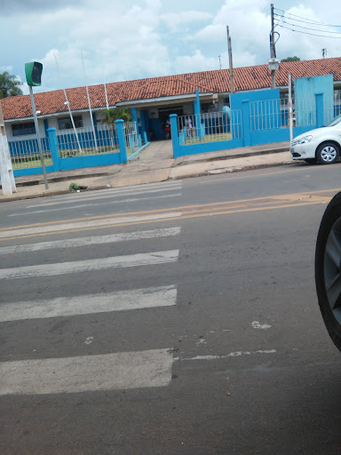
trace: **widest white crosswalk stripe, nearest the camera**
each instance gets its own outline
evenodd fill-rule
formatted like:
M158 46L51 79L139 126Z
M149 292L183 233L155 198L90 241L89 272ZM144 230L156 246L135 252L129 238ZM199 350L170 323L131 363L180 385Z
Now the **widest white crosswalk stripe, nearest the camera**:
M44 395L165 387L170 349L0 363L0 395Z

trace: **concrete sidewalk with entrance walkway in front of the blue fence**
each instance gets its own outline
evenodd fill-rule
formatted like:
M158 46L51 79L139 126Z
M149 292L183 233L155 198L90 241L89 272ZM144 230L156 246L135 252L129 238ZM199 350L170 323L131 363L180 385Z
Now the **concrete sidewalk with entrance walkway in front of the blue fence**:
M47 190L43 175L18 177L15 179L17 193L12 196L0 194L0 202L70 193L69 185L72 182L86 187L87 190L95 190L241 172L282 164L293 164L289 142L234 148L174 159L171 140L163 140L152 142L142 151L139 158L129 164L49 173Z

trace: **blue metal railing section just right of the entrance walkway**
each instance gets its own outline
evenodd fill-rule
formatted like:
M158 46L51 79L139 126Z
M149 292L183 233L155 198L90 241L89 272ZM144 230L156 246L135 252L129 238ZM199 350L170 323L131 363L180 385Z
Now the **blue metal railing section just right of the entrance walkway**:
M242 110L178 116L180 145L242 138Z

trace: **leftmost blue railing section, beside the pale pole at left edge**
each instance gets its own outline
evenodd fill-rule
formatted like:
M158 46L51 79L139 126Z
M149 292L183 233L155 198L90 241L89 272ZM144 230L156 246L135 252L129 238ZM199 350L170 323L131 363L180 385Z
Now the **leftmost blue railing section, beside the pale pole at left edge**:
M52 165L49 138L41 138L41 143L45 165ZM9 141L8 146L10 148L13 170L39 167L42 165L39 156L38 141L36 139Z

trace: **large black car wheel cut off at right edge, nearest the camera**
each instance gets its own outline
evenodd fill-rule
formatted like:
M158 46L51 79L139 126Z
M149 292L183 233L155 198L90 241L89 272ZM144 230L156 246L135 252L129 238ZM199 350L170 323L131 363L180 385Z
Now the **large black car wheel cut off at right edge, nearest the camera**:
M341 351L341 192L330 201L321 220L315 283L323 321Z

